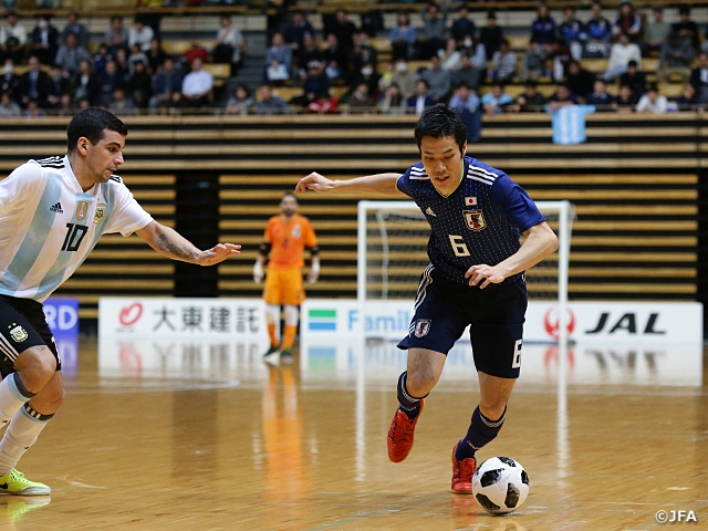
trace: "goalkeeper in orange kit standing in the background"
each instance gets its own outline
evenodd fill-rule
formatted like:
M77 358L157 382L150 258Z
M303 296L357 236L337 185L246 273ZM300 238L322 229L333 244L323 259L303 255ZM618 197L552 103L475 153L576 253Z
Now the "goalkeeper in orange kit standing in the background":
M263 299L266 321L270 336L270 347L266 358L280 352L282 363L292 363L292 344L298 332L298 306L305 300L302 282L304 249L310 249L311 269L308 282L316 282L320 277L317 238L310 220L298 214L298 199L285 194L280 201L280 216L268 220L263 242L253 264L253 280L263 281L263 266L269 258ZM275 323L280 321L280 306L284 306L285 326L282 340L275 335Z

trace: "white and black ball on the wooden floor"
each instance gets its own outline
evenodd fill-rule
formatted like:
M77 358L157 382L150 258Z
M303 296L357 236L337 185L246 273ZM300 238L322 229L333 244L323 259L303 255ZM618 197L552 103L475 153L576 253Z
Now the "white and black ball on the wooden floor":
M492 457L472 476L472 493L487 512L506 514L519 509L529 496L529 476L509 457Z

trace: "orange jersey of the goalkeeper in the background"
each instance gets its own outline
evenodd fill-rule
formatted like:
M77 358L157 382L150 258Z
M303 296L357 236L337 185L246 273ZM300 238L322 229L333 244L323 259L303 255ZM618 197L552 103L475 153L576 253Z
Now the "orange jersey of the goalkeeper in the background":
M290 221L285 221L282 216L270 218L263 238L272 246L269 263L272 269L304 268L304 248L317 244L310 220L299 214Z

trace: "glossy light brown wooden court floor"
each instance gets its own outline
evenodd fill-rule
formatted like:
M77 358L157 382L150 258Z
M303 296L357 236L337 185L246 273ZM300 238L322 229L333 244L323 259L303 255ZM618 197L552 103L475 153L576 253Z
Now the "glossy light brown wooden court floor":
M450 449L477 403L456 367L394 465L385 438L403 357L348 369L190 350L152 369L121 356L123 368L104 369L97 342L82 340L63 408L18 467L52 487L51 501L0 498L0 530L708 529L705 384L642 385L621 371L559 387L522 373L480 457L516 458L531 490L516 513L491 517L449 491ZM659 524L659 510L698 522Z

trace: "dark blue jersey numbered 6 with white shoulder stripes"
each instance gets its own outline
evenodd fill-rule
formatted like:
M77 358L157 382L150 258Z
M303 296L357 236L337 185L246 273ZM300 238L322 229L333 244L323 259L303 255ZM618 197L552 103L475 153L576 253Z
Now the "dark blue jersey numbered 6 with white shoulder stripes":
M437 191L423 163L414 164L396 187L413 198L430 223L428 258L447 279L467 283L467 270L496 266L516 253L519 233L545 219L527 192L507 174L465 157L462 180L447 197ZM509 277L516 282L523 273Z

